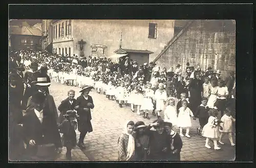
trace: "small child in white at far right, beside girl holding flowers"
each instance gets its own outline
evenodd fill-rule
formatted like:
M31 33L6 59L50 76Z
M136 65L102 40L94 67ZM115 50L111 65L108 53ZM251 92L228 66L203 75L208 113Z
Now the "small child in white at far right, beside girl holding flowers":
M230 143L231 143L231 146L235 146L236 144L234 144L233 142L233 138L232 138L232 131L233 131L233 122L236 122L236 119L234 119L232 116L231 116L231 110L229 108L226 108L226 114L224 114L222 117L221 117L221 121L223 123L220 124L220 132L221 132L221 135L220 135L220 140L219 140L219 143L224 145L224 143L222 142L222 138L225 134L228 134L228 137L229 137L229 140L230 140Z

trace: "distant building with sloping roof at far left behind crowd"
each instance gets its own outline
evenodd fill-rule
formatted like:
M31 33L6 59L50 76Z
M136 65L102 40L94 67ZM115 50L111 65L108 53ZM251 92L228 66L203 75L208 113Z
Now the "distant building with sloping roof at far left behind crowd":
M41 30L23 22L9 26L9 48L11 51L41 50Z

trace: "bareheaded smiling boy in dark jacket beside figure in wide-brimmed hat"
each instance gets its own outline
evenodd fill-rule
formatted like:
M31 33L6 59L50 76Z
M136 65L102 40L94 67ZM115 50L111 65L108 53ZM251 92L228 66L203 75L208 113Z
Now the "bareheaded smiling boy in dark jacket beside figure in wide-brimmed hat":
M68 91L68 98L63 100L59 107L58 110L60 111L59 118L58 118L58 123L62 123L64 120L63 115L66 114L68 110L74 110L75 109L75 104L76 104L76 99L75 97L75 91L74 90L69 90Z

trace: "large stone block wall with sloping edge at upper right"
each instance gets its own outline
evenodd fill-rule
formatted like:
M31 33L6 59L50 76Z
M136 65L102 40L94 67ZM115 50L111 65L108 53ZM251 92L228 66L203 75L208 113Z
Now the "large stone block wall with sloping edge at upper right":
M208 66L222 71L226 77L236 69L236 26L232 20L195 20L156 61L161 68L176 68L186 62L191 66Z

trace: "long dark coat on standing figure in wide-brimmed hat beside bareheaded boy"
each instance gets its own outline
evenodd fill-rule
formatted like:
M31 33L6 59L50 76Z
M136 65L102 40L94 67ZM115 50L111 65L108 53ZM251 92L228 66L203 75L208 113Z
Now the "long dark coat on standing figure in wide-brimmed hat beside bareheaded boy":
M77 114L79 115L78 131L80 131L80 132L92 132L93 131L93 127L91 124L91 119L92 119L91 109L94 108L94 104L93 104L93 107L90 108L87 106L88 103L93 104L93 99L90 95L88 95L88 100L84 99L82 94L76 99L75 106L79 106L79 108L77 109ZM83 110L83 108L88 108L88 110L85 111L85 110Z

